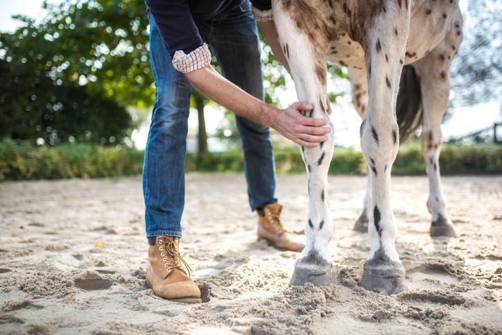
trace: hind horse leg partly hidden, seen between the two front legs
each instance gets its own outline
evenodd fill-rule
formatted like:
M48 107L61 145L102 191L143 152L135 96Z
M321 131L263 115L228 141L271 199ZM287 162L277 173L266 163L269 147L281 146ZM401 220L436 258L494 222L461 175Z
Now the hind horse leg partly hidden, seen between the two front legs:
M357 113L364 119L367 107L367 78L366 69L349 69L350 86L352 89L352 104L356 109ZM363 201L363 212L354 224L354 230L358 232L367 232L367 224L369 220L369 214L367 209L370 207L371 203L371 175L368 174L366 179L366 195Z

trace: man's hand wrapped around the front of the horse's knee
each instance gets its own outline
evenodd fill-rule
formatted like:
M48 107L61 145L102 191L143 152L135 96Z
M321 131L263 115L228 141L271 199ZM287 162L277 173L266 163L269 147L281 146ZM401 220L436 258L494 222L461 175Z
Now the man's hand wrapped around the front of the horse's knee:
M300 110L309 111L312 110L312 106L308 103L293 103L289 108L280 110L272 121L272 128L306 148L313 148L320 142L326 141L328 139L326 134L331 132L331 128L322 126L325 126L328 120L304 117L300 114Z

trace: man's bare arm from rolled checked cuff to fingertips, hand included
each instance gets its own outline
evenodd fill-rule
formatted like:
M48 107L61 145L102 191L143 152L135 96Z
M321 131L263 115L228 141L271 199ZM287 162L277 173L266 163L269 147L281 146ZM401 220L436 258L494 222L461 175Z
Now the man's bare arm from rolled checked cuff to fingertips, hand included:
M308 103L293 103L285 110L273 108L244 92L220 76L211 66L185 74L191 85L211 100L243 117L269 126L300 146L312 148L327 140L327 120L304 117L300 110L311 110Z

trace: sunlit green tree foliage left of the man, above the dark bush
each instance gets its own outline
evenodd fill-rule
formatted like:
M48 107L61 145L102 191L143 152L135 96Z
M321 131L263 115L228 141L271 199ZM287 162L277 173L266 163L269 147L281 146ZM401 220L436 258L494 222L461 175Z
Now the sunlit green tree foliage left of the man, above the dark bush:
M33 65L52 80L104 93L122 105L153 104L143 1L62 1L46 9L40 24L23 19L24 26L2 34L3 58Z

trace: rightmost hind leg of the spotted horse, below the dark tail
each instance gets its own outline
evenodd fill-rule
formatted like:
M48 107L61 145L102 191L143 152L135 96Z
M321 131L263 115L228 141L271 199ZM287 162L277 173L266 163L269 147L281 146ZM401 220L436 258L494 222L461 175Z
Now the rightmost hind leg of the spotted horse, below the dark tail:
M450 92L449 69L455 50L462 40L461 19L458 17L452 29L438 46L435 47L413 67L420 78L424 117L422 121L422 155L429 177L429 199L427 207L432 214L431 237L455 237L456 233L444 206L441 191L439 157L441 151L441 121L448 105ZM454 46L453 49L451 46Z

